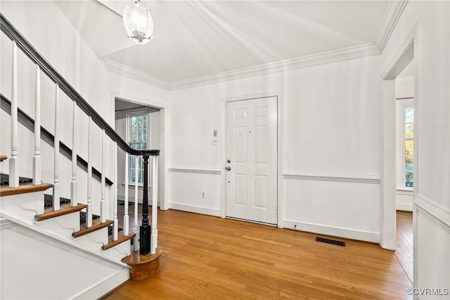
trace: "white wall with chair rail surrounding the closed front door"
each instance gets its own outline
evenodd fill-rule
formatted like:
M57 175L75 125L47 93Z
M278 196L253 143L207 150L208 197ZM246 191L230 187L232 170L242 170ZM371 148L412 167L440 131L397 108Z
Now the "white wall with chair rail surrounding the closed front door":
M379 56L172 92L169 201L221 215L224 101L283 96L283 224L379 241ZM207 193L201 199L201 192Z

